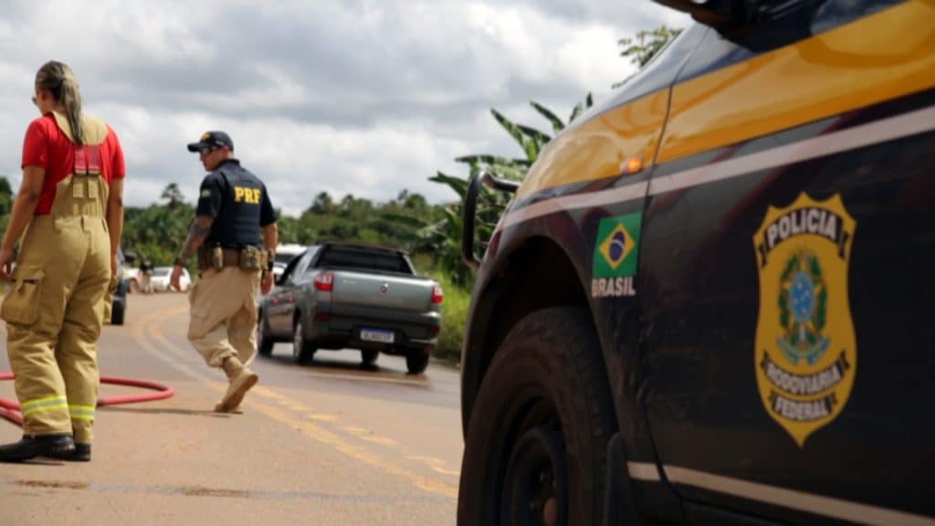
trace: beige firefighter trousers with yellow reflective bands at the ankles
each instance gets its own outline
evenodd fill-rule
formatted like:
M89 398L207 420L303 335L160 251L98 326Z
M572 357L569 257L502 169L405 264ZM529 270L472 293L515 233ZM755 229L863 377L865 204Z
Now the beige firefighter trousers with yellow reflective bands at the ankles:
M102 177L73 174L23 237L0 315L25 434L94 440L97 339L111 278L107 201Z

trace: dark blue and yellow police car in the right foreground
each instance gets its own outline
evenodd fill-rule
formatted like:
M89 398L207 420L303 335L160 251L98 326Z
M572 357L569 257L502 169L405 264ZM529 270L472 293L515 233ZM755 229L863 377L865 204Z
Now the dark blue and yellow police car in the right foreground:
M935 523L935 4L662 3L697 23L471 185L468 226L515 196L459 523Z

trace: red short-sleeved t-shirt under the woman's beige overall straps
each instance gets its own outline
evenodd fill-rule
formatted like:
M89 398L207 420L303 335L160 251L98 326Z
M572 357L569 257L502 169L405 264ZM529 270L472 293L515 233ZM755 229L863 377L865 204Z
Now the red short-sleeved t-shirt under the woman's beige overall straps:
M39 117L26 129L26 139L22 143L22 168L26 167L46 170L36 215L47 215L55 201L55 186L75 169L75 143L68 140L51 114ZM126 176L120 139L109 125L108 136L101 144L101 174L108 186L114 179Z

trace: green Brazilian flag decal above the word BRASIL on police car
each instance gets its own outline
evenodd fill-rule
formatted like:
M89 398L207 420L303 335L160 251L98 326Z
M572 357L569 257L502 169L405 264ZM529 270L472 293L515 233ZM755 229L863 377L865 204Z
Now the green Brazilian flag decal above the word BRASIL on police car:
M637 274L642 214L605 217L597 226L592 277L617 278Z

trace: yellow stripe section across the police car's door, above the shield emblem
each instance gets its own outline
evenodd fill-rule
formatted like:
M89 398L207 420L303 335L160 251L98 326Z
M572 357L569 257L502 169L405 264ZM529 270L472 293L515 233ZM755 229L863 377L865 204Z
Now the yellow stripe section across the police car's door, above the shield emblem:
M676 85L656 162L930 88L935 85L933 5L910 1L890 7Z

